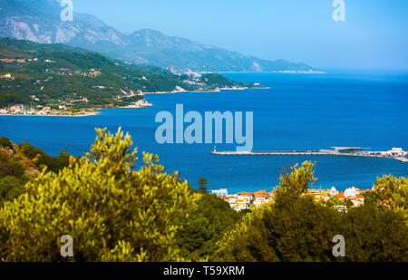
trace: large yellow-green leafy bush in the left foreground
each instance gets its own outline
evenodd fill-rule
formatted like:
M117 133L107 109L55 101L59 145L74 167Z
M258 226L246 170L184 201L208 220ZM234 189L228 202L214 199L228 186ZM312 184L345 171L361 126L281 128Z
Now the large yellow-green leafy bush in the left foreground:
M0 209L4 261L62 261L60 238L73 237L71 261L177 261L178 220L199 198L177 174L144 154L138 171L130 135L97 130L92 150L58 174L43 172Z

